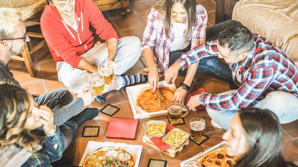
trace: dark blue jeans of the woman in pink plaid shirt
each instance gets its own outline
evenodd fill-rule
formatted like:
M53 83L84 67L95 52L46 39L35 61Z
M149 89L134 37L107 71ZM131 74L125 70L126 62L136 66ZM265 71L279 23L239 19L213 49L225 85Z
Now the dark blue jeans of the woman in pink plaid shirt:
M214 26L211 26L206 29L206 40L205 41L212 41L216 40L218 34L227 29L228 27L241 25L240 22L235 20L228 20L222 23L218 23ZM187 50L188 51L188 50ZM185 50L177 50L170 52L169 55L169 67L175 63L175 61L182 55L185 54L187 51ZM198 64L197 72L209 72L212 75L217 76L218 78L224 79L229 82L233 82L232 78L232 71L230 67L224 63L222 63L216 57L206 57L202 58ZM179 75L186 75L187 68L179 70Z

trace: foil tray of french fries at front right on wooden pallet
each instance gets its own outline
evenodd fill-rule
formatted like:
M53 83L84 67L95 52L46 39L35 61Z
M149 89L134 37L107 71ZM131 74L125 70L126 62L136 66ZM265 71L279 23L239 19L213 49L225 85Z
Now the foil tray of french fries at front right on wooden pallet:
M189 136L189 133L184 132L179 128L174 128L162 137L162 141L169 144L171 148L177 149L189 138Z

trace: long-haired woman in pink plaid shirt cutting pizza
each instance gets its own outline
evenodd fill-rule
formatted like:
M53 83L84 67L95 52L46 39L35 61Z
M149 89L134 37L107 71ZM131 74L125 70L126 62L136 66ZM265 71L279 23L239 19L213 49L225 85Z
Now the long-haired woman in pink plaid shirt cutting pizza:
M207 29L206 35L207 11L195 0L161 0L151 7L147 19L141 50L143 50L148 67L145 68L143 74L148 75L149 84L153 90L156 89L159 77L164 76L165 71L182 54L204 43L205 39L206 41L217 39L217 34L221 30L240 24L234 21L220 23L210 27L209 32ZM191 85L196 72L207 71L216 75L217 71L209 71L208 66L223 66L222 68L230 70L227 65L214 57L204 58L200 63L191 64L188 70L179 71L180 75L186 75L182 83L185 84L186 89L179 87L173 100L184 103L187 87ZM232 81L231 74L219 77ZM170 83L170 81L167 82Z

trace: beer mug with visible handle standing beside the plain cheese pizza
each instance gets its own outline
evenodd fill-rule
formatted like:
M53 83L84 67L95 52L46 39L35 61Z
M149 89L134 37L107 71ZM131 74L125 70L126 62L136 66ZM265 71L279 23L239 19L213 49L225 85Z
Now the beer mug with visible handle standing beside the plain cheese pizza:
M186 112L183 114L183 112ZM179 101L170 101L168 103L168 117L172 123L178 123L182 117L186 116L188 110L182 106Z

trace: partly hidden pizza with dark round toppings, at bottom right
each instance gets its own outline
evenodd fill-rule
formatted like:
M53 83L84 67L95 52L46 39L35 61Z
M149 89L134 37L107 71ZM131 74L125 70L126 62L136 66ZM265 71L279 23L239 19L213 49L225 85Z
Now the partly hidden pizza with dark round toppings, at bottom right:
M233 166L235 165L235 160L238 157L230 157L227 155L227 150L220 148L205 154L199 159L202 167L213 167L213 166Z

